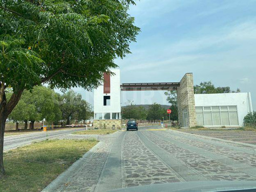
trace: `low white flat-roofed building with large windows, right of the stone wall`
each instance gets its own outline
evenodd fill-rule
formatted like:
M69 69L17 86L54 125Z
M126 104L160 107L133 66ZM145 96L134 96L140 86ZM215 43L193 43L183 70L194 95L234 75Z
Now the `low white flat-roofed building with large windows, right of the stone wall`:
M250 93L195 94L197 125L243 126L252 112Z

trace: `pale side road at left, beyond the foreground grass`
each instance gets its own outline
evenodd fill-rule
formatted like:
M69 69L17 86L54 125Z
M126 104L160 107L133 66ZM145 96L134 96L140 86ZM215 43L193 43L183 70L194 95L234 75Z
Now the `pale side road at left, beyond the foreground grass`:
M75 131L85 130L84 128L74 128L74 130L60 130L60 131L47 131L47 132L35 132L28 134L20 134L13 136L5 136L4 138L4 151L17 148L26 144L30 144L35 141L41 141L50 138L56 138L61 135L67 135Z

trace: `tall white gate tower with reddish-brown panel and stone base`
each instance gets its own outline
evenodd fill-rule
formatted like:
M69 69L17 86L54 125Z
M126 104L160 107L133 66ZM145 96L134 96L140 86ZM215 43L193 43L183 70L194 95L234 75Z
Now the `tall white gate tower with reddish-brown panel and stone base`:
M94 127L112 129L121 127L120 70L115 75L104 73L104 82L94 90Z

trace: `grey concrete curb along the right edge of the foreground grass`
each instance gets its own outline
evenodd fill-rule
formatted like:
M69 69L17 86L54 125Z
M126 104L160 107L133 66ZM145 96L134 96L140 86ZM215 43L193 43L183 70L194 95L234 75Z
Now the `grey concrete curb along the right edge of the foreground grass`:
M84 161L92 156L97 149L102 145L103 142L97 143L93 146L87 153L85 153L80 159L74 162L65 172L61 173L55 180L53 180L46 188L42 190L42 192L51 192L51 191L62 191L68 182L69 178L75 175L75 173L79 172L79 169L82 168L82 164ZM61 186L61 187L59 187Z

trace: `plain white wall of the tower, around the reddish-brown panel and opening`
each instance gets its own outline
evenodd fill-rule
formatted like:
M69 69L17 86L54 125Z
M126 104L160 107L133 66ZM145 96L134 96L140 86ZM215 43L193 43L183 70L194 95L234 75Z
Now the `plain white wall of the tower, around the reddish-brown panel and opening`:
M120 113L120 70L112 69L115 73L110 77L110 94L103 94L103 85L94 90L94 113ZM102 82L103 84L103 82ZM103 105L103 96L110 96L110 105Z

